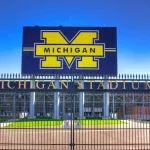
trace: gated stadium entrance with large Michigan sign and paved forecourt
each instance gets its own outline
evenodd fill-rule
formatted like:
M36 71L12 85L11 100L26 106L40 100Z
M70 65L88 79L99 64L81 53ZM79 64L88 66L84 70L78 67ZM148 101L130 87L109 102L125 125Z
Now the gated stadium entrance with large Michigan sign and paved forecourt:
M0 149L150 149L150 79L117 74L115 27L24 27L21 74L0 77Z

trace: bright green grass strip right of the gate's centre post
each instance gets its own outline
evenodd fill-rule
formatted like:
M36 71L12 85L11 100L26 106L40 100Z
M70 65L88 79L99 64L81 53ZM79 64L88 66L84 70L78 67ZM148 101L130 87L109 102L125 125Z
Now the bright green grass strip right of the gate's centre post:
M127 124L121 120L100 120L100 119L85 119L80 120L82 125L114 125L114 124Z

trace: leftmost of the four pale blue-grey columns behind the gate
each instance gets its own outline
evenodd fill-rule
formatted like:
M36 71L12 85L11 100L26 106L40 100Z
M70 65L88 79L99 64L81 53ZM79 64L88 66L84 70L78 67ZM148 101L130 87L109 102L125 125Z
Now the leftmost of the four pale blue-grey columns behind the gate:
M32 80L32 89L35 89L35 80ZM30 92L30 118L35 118L35 92Z

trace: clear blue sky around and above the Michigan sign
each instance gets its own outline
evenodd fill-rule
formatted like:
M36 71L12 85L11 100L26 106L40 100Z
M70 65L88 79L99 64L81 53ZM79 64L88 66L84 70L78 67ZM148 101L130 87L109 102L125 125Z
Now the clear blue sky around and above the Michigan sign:
M150 74L150 0L0 0L0 73L21 72L22 27L34 25L116 26L118 73Z

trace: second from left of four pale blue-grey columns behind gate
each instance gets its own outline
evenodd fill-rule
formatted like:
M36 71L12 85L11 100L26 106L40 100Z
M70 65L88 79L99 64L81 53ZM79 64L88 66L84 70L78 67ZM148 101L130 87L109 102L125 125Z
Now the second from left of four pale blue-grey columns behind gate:
M56 89L60 88L59 85L59 80L57 80L58 78L56 77L55 80L55 87ZM60 102L60 93L59 92L55 92L54 93L54 119L59 119L60 118L60 114L59 114L59 102Z

